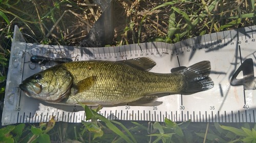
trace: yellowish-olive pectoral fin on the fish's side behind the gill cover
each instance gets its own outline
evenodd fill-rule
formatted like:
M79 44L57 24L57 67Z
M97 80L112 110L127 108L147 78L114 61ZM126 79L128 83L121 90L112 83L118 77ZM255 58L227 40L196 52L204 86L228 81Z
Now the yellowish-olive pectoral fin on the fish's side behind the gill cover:
M75 83L71 89L72 94L88 90L96 82L96 76L90 76Z

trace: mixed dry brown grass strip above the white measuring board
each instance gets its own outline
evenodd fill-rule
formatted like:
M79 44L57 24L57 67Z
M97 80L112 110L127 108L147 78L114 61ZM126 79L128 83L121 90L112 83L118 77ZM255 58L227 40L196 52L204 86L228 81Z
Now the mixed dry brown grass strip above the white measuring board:
M226 30L223 25L241 18L228 28L253 25L252 1L115 1L115 39L113 45L147 41L174 43L189 37ZM153 10L157 6L166 6ZM153 11L152 11L153 10ZM17 1L2 3L10 19L2 20L1 31L7 33L17 24L23 33L40 43L79 45L101 15L91 1ZM181 13L183 12L183 13ZM173 14L173 15L172 15ZM247 14L247 15L246 15ZM173 17L170 17L170 16ZM2 38L3 38L2 34ZM28 37L28 42L35 42Z

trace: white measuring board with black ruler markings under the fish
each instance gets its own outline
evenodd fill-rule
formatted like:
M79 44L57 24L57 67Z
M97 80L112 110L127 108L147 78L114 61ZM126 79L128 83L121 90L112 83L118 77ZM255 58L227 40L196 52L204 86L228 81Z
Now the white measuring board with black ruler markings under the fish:
M255 122L256 26L190 38L175 44L149 42L116 47L84 48L26 43L15 26L7 76L2 124L56 121L79 123L85 119L81 106L55 105L25 96L18 85L25 78L47 69L30 62L31 55L66 57L73 61L119 61L142 56L156 66L150 72L170 73L179 66L210 61L214 88L192 95L158 98L159 106L104 107L99 113L111 120L174 122Z

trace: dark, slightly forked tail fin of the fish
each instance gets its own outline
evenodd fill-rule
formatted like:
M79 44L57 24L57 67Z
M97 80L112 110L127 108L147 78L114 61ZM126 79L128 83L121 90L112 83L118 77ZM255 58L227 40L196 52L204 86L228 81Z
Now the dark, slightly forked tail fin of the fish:
M214 82L209 77L210 69L210 62L202 61L177 71L185 76L185 85L181 93L193 94L213 88Z

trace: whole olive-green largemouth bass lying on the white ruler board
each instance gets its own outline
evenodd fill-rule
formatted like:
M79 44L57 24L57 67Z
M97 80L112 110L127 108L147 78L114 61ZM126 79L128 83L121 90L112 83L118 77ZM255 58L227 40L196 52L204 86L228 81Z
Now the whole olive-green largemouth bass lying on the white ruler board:
M19 88L29 97L56 104L143 105L162 93L187 95L214 87L209 61L167 74L149 72L155 65L149 58L63 63L30 76Z

